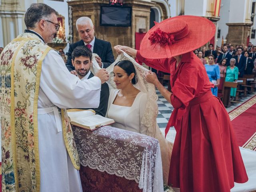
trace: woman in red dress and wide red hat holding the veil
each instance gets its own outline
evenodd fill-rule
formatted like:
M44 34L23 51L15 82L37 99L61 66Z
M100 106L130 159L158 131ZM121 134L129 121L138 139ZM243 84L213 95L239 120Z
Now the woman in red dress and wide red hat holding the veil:
M214 85L192 52L214 36L215 26L197 16L177 16L155 24L143 38L140 51L120 45L114 49L170 73L172 92L156 74L146 74L147 81L174 107L165 130L167 134L170 126L176 129L168 184L180 192L229 192L234 182L246 182L248 177L228 113L212 95Z

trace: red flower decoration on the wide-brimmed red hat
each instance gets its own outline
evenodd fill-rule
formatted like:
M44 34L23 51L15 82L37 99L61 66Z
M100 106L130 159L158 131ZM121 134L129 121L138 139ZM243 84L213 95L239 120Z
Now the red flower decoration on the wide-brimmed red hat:
M161 45L172 45L175 43L174 35L171 33L166 33L160 28L157 28L148 38L151 44L159 43Z

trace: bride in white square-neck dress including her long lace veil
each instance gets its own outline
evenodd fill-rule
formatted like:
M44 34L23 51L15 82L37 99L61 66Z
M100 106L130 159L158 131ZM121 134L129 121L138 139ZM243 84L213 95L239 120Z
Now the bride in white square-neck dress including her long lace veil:
M96 55L93 54L92 73L100 69L94 56ZM107 82L110 96L106 116L114 119L113 126L116 128L145 134L159 141L163 179L167 184L173 144L164 139L156 123L158 96L155 86L146 82L144 77L148 70L126 53L118 55L106 70L110 74Z

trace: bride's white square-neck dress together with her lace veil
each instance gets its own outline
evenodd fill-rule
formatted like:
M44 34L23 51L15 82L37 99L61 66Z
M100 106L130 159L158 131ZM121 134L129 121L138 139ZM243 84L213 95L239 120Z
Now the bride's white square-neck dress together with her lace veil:
M96 74L100 67L95 60L96 54L93 54L91 71ZM114 83L113 69L114 65L121 60L129 60L134 64L136 70L137 83L134 85L140 93L136 96L134 103L131 107L114 105L114 99L118 90ZM128 54L123 53L118 55L115 62L106 68L110 74L108 80L108 86L110 88L110 96L108 102L107 116L115 120L114 127L138 132L151 137L156 138L159 141L161 149L162 167L163 167L163 179L164 183L168 183L170 158L172 152L173 143L164 139L158 124L156 123L156 117L158 115L158 105L156 101L158 96L156 95L155 86L146 82L144 77L145 72L148 69L138 64Z

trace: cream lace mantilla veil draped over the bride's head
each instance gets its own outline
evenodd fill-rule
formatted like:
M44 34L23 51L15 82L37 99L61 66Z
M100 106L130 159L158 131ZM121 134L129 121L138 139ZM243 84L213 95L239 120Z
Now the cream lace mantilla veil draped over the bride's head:
M101 69L98 63L96 62L95 56L98 56L98 55L93 53L92 67L90 69L93 74L96 74L96 72L98 72L98 70ZM156 101L158 100L158 96L156 95L155 86L151 83L148 83L144 77L144 74L148 71L148 69L138 64L132 57L130 57L125 52L123 52L122 54L118 55L114 63L112 63L108 68L106 68L106 70L109 73L109 80L107 84L110 90L116 89L116 84L114 83L113 70L114 70L115 64L122 60L129 60L133 63L134 68L136 70L136 82L137 82L134 85L134 87L144 93L147 93L148 95L146 108L144 110L144 114L140 123L148 128L146 133L147 136L154 137L159 141L160 149L161 149L161 157L162 157L164 183L167 184L173 144L164 139L164 136L160 131L158 124L156 123L156 117L158 115L158 105Z

